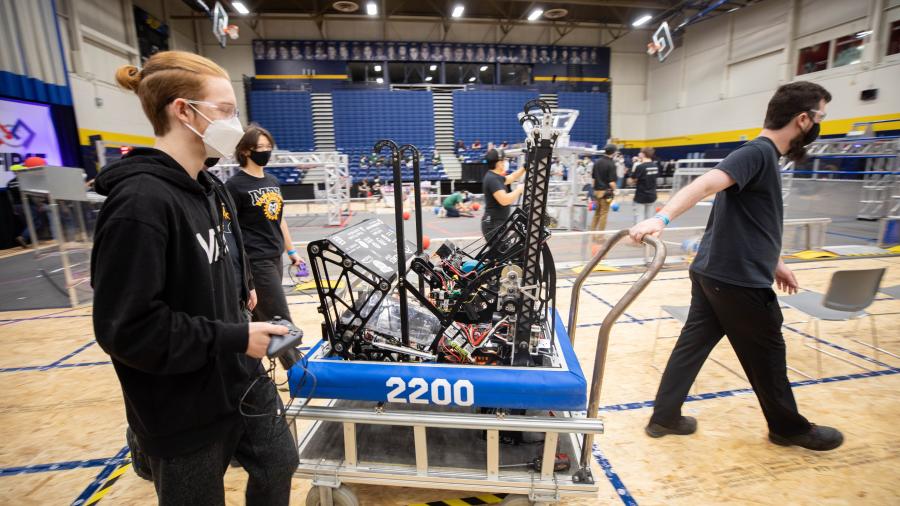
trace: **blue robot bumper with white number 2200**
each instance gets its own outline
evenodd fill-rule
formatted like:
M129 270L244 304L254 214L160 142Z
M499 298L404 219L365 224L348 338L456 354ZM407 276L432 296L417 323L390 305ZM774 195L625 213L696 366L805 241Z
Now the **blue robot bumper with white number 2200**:
M291 396L315 388L321 399L583 411L587 382L558 313L555 326L559 367L347 361L322 357L319 341L288 371Z

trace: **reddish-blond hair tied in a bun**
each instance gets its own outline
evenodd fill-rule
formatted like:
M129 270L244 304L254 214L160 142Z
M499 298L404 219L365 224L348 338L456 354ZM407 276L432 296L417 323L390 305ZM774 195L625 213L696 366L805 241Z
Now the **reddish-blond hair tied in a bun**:
M185 51L156 53L143 69L122 65L116 70L116 82L137 94L157 136L169 131L166 106L176 98L203 98L210 77L228 79L228 73L214 61Z

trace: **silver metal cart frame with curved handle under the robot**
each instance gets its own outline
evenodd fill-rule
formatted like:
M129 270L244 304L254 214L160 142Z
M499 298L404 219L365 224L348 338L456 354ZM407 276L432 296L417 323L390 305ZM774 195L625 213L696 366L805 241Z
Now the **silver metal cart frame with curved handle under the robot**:
M594 267L626 235L627 231L621 230L610 237L575 280L568 319L569 339L573 345L582 285ZM449 413L423 409L392 411L387 409L388 405L374 402L371 403L372 409L341 407L337 400L330 400L324 406L303 406L305 402L299 402L299 405L288 407L285 416L293 421L295 435L298 421L314 422L297 439L301 458L295 476L312 480L314 487L307 497L307 505L332 506L336 496L340 496L339 506L358 504L353 492L343 487L344 483L517 494L507 498L505 502L509 504L513 504L514 500L525 502L524 496L527 496L528 501L537 504L553 504L564 495L596 494L599 485L595 477L601 476L602 473L598 472L592 450L594 435L603 433L603 421L599 419L600 390L603 385L610 331L616 320L653 280L665 262L666 248L659 239L646 237L644 242L655 250L653 260L643 275L609 311L598 332L586 415L568 411L555 412L556 416L509 415L504 411L497 414ZM323 424L327 422L342 425L343 458L341 460L327 459L323 456L304 458L304 450L320 436ZM415 464L361 462L357 452L357 425L412 427ZM471 465L462 468L430 467L429 451L439 449L429 449L428 429L485 431L486 461L473 460L470 462ZM500 431L543 433L541 468L521 471L503 469L501 472ZM568 443L575 452L580 452L577 470L574 473L554 472L557 445L561 438L568 438ZM336 493L338 489L339 493Z

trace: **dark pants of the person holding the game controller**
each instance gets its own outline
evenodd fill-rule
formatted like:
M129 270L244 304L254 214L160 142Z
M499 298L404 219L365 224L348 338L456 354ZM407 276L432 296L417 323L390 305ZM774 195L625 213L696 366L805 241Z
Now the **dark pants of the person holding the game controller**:
M284 412L274 385L260 380L247 395L243 410L247 414L274 415L276 408ZM224 505L223 476L232 456L249 474L246 504L289 504L291 478L299 463L297 444L284 418L274 416L241 416L234 432L194 453L149 457L159 504Z

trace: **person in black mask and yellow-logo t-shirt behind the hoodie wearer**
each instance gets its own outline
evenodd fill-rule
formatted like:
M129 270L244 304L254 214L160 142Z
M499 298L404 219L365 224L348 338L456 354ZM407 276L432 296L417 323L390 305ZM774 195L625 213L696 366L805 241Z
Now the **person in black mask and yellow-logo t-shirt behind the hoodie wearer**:
M263 170L274 146L272 134L264 128L248 127L234 151L241 170L225 183L237 206L237 222L256 287L254 321L269 321L276 316L291 319L281 286L284 276L281 255L287 254L292 267L302 263L291 241L287 221L282 219L281 186L275 176Z

